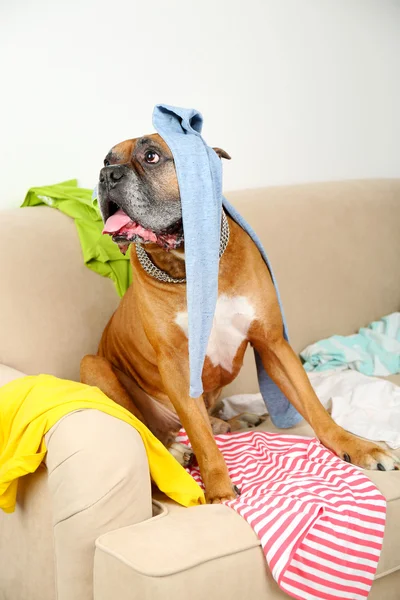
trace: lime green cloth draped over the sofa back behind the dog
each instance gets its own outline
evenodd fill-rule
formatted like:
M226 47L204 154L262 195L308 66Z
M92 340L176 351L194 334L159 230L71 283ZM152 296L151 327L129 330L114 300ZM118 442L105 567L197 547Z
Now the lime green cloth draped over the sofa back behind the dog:
M124 256L108 235L102 235L103 221L92 190L79 188L76 179L55 185L31 188L22 206L47 205L72 217L78 230L85 265L115 283L123 296L132 281L129 252Z

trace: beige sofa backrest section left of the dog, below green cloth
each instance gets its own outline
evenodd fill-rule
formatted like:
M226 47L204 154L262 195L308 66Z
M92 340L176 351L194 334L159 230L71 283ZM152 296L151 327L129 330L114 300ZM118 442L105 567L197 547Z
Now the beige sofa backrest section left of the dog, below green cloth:
M83 263L72 219L48 207L0 212L0 363L79 379L118 304Z

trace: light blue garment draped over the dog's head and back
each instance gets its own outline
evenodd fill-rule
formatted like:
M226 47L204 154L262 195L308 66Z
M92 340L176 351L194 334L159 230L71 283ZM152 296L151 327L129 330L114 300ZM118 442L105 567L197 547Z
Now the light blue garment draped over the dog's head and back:
M222 196L221 160L201 136L201 114L194 109L159 104L154 108L153 125L173 154L178 177L185 235L189 394L192 398L198 398L203 393L202 371L218 298L222 205L257 245L271 273L281 311L282 306L276 281L260 240ZM207 240L206 244L204 240ZM283 334L288 339L284 318L283 323ZM302 417L268 377L257 352L255 359L260 391L273 423L277 427L292 427Z

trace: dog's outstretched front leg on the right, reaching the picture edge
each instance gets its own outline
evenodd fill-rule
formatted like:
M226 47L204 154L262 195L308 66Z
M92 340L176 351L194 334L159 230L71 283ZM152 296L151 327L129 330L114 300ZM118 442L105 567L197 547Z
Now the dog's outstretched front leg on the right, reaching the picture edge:
M282 336L282 323L269 331L256 327L251 343L271 379L308 421L318 439L347 462L364 469L398 469L399 460L377 444L360 439L337 425L316 396L300 359Z

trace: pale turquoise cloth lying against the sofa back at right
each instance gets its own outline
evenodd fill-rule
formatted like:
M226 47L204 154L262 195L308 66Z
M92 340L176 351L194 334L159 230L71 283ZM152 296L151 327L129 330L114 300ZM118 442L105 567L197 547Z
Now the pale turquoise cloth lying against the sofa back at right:
M374 321L355 335L333 335L300 353L306 371L347 367L364 375L400 373L400 312Z

